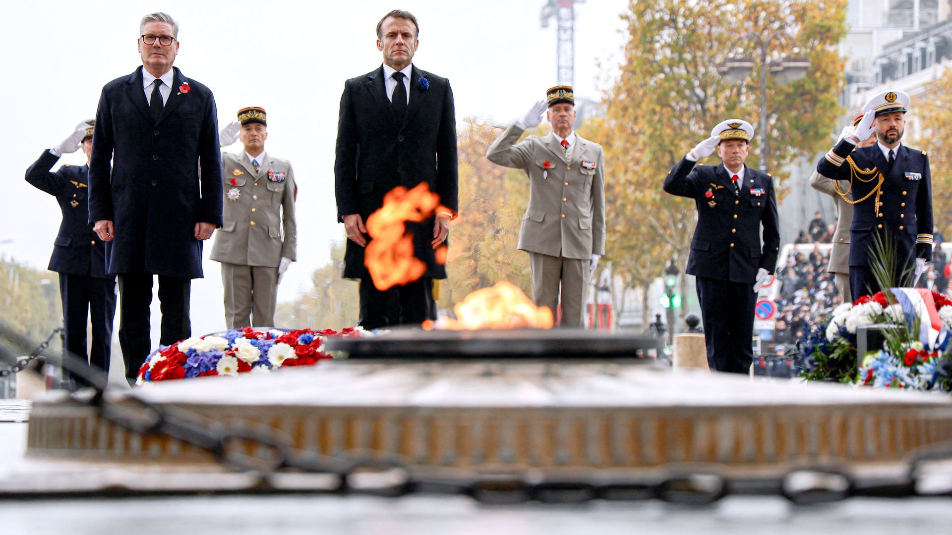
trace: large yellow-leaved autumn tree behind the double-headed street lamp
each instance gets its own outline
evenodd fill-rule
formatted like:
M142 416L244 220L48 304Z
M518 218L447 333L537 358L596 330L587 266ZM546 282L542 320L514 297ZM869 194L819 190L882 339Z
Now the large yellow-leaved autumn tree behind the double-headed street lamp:
M773 36L768 62L806 56L806 76L788 85L767 79L768 131L751 142L747 165L758 167L760 140L769 138L771 172L777 178L798 157L828 145L841 109L837 96L843 59L834 46L845 35L846 0L639 0L623 15L628 41L618 79L605 94L606 207L612 261L656 254L645 241L660 241L684 271L697 219L694 203L665 194L668 170L710 129L730 117L758 126L760 53L754 34ZM717 66L738 56L755 68L740 84L722 79ZM711 158L715 163L714 158ZM610 214L624 215L612 217ZM640 240L611 238L636 235ZM664 260L664 259L662 259ZM631 266L634 261L628 260ZM661 262L645 262L632 277L660 274ZM684 277L681 292L684 294ZM684 314L684 308L682 309Z

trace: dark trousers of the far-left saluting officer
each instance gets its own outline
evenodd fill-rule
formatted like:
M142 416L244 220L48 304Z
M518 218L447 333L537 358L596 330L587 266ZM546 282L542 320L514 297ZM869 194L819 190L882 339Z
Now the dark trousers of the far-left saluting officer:
M86 361L93 373L109 373L112 347L112 320L116 312L115 281L85 275L60 273L60 298L63 301L63 346ZM88 314L89 313L89 314ZM92 347L86 350L87 318L92 321ZM63 378L76 386L89 386L82 376L63 370Z

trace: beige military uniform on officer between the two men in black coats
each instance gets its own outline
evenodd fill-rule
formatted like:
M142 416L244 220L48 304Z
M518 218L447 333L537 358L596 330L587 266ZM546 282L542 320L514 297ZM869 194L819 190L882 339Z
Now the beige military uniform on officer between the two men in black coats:
M211 259L222 263L228 328L274 325L278 266L295 260L294 171L266 151L255 172L248 155L222 154L224 225ZM283 230L283 231L282 231Z

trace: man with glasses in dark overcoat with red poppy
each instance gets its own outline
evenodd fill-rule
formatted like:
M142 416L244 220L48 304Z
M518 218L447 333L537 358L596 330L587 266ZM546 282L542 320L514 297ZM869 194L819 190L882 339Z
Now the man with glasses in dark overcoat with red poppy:
M160 343L188 338L202 242L222 226L215 99L172 68L178 25L168 14L146 15L139 33L143 67L103 88L89 165L89 223L109 242L107 270L119 275L119 344L130 382L149 355L152 276L159 276Z

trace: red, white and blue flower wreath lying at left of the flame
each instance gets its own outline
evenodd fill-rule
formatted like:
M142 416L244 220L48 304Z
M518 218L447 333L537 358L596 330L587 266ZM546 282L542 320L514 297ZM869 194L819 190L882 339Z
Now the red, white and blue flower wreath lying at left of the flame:
M234 328L222 334L192 337L159 347L139 368L135 384L313 366L317 361L330 358L324 351L324 340L328 337L361 336L369 336L369 333L360 327L347 327L342 331Z

